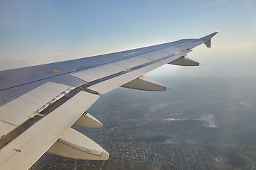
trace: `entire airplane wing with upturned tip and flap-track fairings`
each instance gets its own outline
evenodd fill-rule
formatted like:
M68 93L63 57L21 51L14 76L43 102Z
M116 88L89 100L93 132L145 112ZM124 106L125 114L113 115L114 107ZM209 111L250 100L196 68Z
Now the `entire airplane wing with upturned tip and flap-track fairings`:
M164 64L197 66L186 55L212 33L135 50L0 72L0 169L29 169L46 151L75 159L109 154L73 124L100 128L87 109L119 86L146 91L166 87L143 75Z

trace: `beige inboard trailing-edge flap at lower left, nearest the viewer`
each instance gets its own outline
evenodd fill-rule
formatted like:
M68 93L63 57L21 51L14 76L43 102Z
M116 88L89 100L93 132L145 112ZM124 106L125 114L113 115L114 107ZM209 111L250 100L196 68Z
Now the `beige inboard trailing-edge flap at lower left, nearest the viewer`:
M97 98L80 91L28 128L0 150L0 169L28 169Z

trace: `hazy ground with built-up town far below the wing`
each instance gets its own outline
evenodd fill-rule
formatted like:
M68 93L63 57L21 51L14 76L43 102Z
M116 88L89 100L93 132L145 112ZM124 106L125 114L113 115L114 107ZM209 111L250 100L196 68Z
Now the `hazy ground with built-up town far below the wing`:
M222 82L225 88L218 86L220 80L205 86L208 82L202 79L189 89L173 84L166 93L106 94L89 110L103 128L73 128L101 145L110 159L46 153L31 169L255 169L255 100L244 96L250 89L227 96L226 87L240 81Z

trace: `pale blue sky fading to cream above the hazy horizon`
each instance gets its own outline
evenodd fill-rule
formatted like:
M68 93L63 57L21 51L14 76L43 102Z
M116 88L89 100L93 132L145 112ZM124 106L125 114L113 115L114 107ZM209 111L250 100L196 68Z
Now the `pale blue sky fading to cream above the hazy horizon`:
M201 67L151 74L250 77L256 64L256 1L0 1L0 69L201 38L188 57Z

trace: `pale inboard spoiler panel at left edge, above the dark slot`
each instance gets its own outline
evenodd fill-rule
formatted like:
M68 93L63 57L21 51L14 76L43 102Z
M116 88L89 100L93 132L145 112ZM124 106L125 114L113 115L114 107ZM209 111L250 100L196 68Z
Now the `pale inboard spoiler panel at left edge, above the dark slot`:
M13 125L13 128L1 128L1 135L6 135L6 133L16 128L16 126L21 125L28 118L33 117L43 106L50 104L54 98L56 100L56 97L58 98L63 91L70 88L70 86L63 84L47 82L1 106L0 120Z

